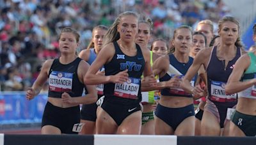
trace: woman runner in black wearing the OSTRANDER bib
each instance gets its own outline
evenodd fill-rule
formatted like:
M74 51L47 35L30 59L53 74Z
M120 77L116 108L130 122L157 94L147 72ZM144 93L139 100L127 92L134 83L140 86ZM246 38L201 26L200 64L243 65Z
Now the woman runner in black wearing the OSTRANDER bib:
M79 34L71 27L61 30L59 38L61 57L47 60L26 98L33 99L49 78L48 102L42 118L42 134L78 134L81 131L79 104L92 104L97 100L95 86L86 85L84 76L89 64L76 56Z

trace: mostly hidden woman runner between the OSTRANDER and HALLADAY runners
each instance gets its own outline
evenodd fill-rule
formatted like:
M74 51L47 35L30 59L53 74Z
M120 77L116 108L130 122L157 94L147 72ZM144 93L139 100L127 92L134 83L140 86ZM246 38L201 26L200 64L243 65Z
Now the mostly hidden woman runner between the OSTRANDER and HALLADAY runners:
M104 25L97 25L93 28L92 31L92 40L88 45L86 50L82 50L79 53L79 57L88 64L92 65L93 61L96 59L98 53L102 49L103 38L106 32L108 31L108 27ZM99 70L99 74L104 75L104 68L102 67ZM103 95L103 84L97 85L98 99ZM81 123L84 123L83 129L80 134L95 134L95 121L96 121L96 110L97 104L83 104L81 110Z

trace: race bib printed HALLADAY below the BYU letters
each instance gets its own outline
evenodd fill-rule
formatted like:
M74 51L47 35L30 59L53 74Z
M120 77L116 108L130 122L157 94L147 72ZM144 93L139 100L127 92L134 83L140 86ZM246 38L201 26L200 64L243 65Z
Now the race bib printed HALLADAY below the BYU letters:
M140 79L129 78L127 82L115 84L114 95L116 97L138 99L138 92L140 89Z

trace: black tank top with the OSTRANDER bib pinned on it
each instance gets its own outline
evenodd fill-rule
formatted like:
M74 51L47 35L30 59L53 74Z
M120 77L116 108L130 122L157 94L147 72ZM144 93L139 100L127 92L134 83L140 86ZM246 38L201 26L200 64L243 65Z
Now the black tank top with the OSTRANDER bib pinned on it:
M77 76L80 61L79 57L69 64L61 64L60 59L53 60L49 71L49 97L61 98L63 92L67 92L71 97L82 95L84 84Z

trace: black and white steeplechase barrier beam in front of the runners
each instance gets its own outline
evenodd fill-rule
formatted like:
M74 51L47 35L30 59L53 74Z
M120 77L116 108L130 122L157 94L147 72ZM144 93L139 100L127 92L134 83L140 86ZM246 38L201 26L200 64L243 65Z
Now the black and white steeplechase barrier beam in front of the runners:
M9 135L0 145L255 145L256 137L184 137L176 135Z

